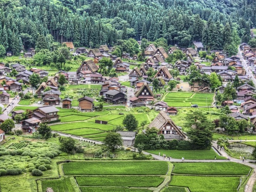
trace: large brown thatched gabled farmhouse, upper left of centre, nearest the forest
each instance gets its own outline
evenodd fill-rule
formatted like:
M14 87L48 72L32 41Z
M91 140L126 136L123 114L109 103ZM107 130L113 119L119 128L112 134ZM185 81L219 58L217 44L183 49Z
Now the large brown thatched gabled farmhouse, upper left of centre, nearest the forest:
M86 77L88 74L95 73L98 71L97 66L92 59L85 60L82 62L80 67L77 69L76 74L78 77Z

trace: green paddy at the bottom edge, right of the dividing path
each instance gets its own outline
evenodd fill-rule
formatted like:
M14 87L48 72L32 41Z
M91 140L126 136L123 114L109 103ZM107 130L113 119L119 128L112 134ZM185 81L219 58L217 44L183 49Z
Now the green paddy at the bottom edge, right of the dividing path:
M239 177L172 176L169 185L188 187L191 192L237 191Z

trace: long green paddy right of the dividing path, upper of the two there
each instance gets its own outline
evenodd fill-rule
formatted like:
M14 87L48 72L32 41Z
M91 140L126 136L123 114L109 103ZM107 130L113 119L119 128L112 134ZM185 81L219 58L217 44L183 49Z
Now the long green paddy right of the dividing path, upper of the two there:
M173 163L173 173L192 175L247 175L250 167L234 162Z

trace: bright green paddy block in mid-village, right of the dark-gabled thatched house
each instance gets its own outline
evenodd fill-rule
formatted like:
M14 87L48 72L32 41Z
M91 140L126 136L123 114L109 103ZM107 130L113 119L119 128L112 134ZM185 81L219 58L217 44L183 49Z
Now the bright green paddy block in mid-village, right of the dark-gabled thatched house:
M174 107L211 106L213 93L170 92L165 96L164 102Z

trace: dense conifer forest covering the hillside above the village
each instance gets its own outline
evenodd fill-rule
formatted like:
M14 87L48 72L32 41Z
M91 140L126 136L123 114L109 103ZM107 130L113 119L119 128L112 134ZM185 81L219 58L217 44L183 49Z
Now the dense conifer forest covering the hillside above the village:
M53 51L54 41L98 48L161 37L228 49L256 26L253 0L0 0L0 10L1 47L15 55L22 46Z

